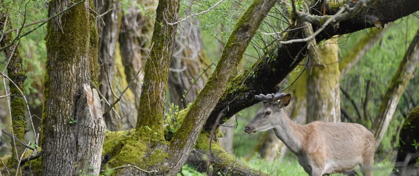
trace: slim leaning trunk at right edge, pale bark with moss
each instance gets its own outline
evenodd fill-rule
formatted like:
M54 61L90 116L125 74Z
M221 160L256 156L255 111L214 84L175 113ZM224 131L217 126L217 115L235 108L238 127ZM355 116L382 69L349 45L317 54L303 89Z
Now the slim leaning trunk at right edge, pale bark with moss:
M403 60L401 60L396 73L393 75L390 84L384 93L383 101L381 103L378 114L374 119L372 131L375 134L377 148L383 139L388 125L393 118L394 111L400 98L406 89L407 83L413 76L416 66L419 62L419 29L416 36L411 41L409 49L407 49Z

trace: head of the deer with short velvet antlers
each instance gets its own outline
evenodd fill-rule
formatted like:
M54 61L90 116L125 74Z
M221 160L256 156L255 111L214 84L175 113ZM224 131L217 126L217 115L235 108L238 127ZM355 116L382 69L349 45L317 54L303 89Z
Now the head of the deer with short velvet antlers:
M277 93L277 94L263 94L256 95L256 100L262 101L264 107L259 109L258 114L250 121L244 128L244 132L253 134L255 132L262 132L274 128L282 119L287 118L282 112L282 108L288 106L291 101L291 94Z

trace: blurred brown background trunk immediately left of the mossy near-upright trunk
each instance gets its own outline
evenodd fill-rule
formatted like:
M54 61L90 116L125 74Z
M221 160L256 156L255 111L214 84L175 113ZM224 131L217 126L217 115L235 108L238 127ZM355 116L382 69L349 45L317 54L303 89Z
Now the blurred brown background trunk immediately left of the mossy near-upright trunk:
M145 5L150 14L145 14L138 5ZM124 66L127 83L129 83L140 70L147 59L153 36L154 21L150 15L155 15L157 0L142 0L133 2L128 13L122 14L121 29L119 31L119 48L122 65ZM134 80L129 89L134 94L136 106L140 103L142 71ZM134 123L135 124L135 123Z

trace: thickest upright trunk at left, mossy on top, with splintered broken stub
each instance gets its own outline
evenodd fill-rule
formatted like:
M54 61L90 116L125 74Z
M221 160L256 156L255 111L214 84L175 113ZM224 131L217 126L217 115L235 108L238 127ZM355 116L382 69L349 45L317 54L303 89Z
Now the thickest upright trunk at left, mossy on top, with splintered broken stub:
M49 16L68 9L47 25L47 73L42 116L43 175L98 175L105 124L97 81L96 15L93 0L49 3ZM65 25L64 25L65 23Z

